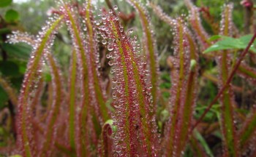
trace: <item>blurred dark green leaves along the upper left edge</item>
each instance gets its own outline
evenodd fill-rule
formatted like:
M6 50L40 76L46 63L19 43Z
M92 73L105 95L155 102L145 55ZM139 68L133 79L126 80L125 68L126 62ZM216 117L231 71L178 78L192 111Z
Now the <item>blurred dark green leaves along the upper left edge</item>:
M27 49L23 50L20 49L19 46L6 43L7 35L11 33L13 29L17 28L19 20L19 13L15 9L12 9L11 5L12 0L0 1L0 7L1 10L3 10L0 15L0 76L7 78L13 86L16 85L15 87L18 89L23 79L23 73L20 73L20 68L22 67L20 61L14 59L15 57L20 58L20 56L14 54L21 55L29 52ZM27 55L27 57L29 57L29 55ZM26 65L26 63L24 65ZM7 93L0 86L0 109L7 106L8 100Z

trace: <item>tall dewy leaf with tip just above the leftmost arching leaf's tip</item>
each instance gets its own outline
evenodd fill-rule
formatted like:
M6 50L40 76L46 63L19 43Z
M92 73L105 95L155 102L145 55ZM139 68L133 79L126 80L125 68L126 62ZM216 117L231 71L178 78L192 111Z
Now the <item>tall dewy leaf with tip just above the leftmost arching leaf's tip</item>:
M77 53L78 58L78 69L79 69L79 77L80 80L77 82L80 87L80 104L77 105L77 113L75 127L76 127L76 137L75 137L75 150L77 156L89 156L90 152L89 148L89 108L90 108L90 97L91 90L89 84L91 83L91 73L89 71L89 67L91 65L90 55L88 50L86 49L86 39L84 39L84 34L81 31L81 26L79 23L77 13L74 8L70 7L68 4L64 2L61 7L61 12L64 12L65 22L67 27L69 28L69 32L72 34L72 44L75 47L75 52Z

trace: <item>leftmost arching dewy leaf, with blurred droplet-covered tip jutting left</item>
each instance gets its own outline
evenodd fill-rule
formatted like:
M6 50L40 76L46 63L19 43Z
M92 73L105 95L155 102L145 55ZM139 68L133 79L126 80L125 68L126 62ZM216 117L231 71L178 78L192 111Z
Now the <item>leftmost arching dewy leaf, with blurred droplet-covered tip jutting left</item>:
M55 37L54 34L59 29L61 20L62 18L57 15L50 17L47 25L35 37L19 32L8 36L10 43L25 42L26 44L31 44L33 48L18 100L18 132L22 132L18 136L18 142L21 143L22 150L31 151L32 156L35 156L33 147L34 128L32 128L30 122L35 114L34 111L38 110L34 110L33 103L37 100L38 90L40 90L39 82L42 76L42 68L45 67L43 59L50 53L50 47L53 45Z

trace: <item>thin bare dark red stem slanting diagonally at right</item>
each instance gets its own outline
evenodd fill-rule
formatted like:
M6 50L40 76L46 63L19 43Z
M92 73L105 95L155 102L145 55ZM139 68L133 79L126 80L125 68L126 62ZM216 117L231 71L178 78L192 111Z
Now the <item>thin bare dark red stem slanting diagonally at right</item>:
M215 102L217 102L217 100L222 95L222 93L225 91L227 86L230 86L230 82L232 81L233 76L235 75L235 73L236 73L239 65L241 64L242 60L244 60L245 55L249 52L249 48L252 46L255 39L256 39L256 32L255 32L254 36L252 36L252 39L249 41L249 44L247 45L246 49L244 49L244 52L239 57L239 60L237 61L235 67L233 68L233 71L230 73L230 76L228 77L227 82L225 83L224 86L222 86L222 88L219 90L219 93L217 94L217 96L214 98L214 100L212 100L211 104L208 106L208 108L206 108L203 115L200 116L200 118L198 119L196 124L192 127L192 129L190 130L190 134L195 129L195 127L200 123L200 121L203 121L203 118L206 116L206 113L208 113L208 111L211 110L211 107L214 105Z

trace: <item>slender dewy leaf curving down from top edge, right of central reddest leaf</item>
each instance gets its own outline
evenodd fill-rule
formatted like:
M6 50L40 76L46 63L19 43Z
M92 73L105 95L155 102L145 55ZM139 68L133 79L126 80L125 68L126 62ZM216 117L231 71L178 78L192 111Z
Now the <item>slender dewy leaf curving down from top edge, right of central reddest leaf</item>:
M156 41L154 39L154 33L151 28L150 18L148 16L148 11L141 4L140 1L136 0L127 0L129 4L132 5L140 15L140 23L143 28L143 49L146 51L146 62L149 65L150 71L150 80L151 80L151 94L153 97L153 106L151 106L151 110L155 113L156 105L157 105L157 97L158 97L158 82L159 82L159 64L158 64L158 54L157 54L157 46Z

